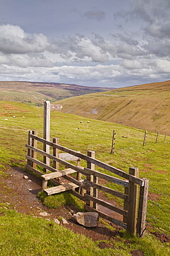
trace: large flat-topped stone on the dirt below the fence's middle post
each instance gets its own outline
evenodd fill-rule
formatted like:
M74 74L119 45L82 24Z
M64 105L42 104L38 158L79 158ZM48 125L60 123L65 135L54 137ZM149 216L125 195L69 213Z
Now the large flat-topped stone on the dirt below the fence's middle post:
M79 224L92 228L98 225L98 213L97 212L77 212L72 218Z

